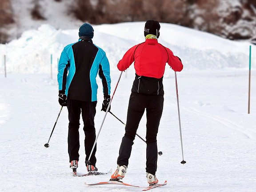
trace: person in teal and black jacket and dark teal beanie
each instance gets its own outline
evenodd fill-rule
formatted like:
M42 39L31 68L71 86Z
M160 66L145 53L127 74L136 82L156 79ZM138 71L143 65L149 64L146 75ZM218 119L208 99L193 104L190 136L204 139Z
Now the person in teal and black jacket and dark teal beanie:
M106 111L110 101L110 67L106 53L92 43L94 30L90 24L79 29L79 40L67 45L61 53L58 64L59 103L68 107L68 154L70 168L76 172L79 160L80 113L84 122L84 147L88 160L96 139L94 117L96 114L97 89L96 76L99 74L104 101L102 110ZM97 171L96 146L86 164L88 172Z

